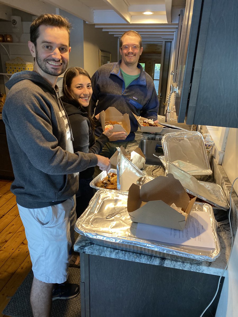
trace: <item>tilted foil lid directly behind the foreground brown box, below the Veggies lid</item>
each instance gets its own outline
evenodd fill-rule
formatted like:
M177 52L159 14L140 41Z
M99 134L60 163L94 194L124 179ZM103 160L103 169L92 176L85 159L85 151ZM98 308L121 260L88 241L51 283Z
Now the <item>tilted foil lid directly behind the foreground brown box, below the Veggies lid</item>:
M230 207L220 185L198 181L192 175L189 175L174 164L168 162L165 175L169 173L173 174L174 177L181 182L188 193L197 196L220 209L228 210Z

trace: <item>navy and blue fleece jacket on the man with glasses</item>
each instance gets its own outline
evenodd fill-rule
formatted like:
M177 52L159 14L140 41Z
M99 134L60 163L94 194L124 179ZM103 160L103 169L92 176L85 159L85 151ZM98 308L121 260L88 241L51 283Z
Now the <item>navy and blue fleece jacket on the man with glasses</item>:
M137 67L140 68L140 76L126 88L120 65L121 60L117 63L102 65L92 76L91 109L92 111L95 109L95 115L108 107L115 107L122 114L128 113L131 132L125 140L122 140L125 142L134 140L134 132L138 129L137 121L131 111L137 116L157 120L159 100L152 78L139 63ZM99 126L95 134L100 136L101 133L102 127Z

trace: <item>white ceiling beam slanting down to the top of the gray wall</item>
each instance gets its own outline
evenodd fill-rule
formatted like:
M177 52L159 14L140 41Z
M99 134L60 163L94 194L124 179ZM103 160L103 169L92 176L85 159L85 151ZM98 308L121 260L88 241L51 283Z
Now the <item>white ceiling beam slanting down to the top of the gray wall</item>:
M25 0L22 2L25 2ZM44 2L69 12L70 14L77 16L84 21L94 23L93 9L90 9L88 6L78 0L44 0Z

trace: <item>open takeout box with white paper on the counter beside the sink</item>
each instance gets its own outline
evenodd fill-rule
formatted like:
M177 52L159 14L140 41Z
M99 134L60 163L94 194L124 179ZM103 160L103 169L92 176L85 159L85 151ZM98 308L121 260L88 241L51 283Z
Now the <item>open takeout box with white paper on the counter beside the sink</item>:
M135 150L133 150L130 154L128 154L126 152L126 150L123 146L120 146L120 149L122 151L122 155L124 155L126 158L128 158L139 169L142 169L145 167L145 156L139 147L137 147ZM111 168L116 168L117 157L118 157L118 151L116 151L112 155L112 157L110 157Z

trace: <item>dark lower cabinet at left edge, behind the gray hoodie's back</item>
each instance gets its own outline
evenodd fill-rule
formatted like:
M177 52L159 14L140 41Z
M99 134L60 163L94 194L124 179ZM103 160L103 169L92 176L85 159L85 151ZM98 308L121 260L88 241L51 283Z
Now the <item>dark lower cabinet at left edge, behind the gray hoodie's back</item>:
M13 179L10 154L7 145L7 136L3 120L0 120L0 178Z

